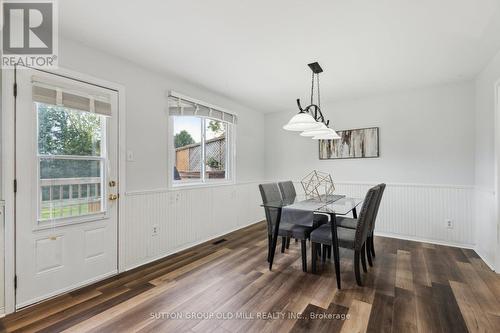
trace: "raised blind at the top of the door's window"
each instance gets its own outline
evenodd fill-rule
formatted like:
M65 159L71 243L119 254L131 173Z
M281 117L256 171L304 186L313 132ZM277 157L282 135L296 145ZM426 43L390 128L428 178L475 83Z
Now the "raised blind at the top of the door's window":
M91 94L78 88L73 91L62 85L45 83L43 79L35 77L33 77L32 83L33 102L111 116L111 102L108 96Z

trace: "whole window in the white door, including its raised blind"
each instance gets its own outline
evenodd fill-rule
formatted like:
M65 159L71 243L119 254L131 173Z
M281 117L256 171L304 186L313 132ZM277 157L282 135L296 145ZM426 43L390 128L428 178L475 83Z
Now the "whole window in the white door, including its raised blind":
M37 115L38 221L105 212L108 97L33 78Z

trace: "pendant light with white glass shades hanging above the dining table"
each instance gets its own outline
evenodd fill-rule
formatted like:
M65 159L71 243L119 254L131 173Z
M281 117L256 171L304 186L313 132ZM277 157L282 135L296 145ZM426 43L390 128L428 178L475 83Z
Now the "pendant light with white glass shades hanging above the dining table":
M312 71L311 79L311 104L306 108L302 108L300 99L297 99L297 106L300 112L290 119L290 121L283 126L287 131L300 131L301 136L312 137L314 140L335 140L340 139L340 136L331 128L328 127L330 121L323 117L321 112L321 102L319 93L319 73L323 69L317 62L308 64ZM316 78L318 86L318 104L314 104L314 79Z

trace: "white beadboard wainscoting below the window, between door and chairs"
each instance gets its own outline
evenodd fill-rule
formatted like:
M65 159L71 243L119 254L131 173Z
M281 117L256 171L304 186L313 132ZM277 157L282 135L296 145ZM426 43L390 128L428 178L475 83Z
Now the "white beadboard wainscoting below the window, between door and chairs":
M262 221L258 184L126 193L121 202L120 271Z

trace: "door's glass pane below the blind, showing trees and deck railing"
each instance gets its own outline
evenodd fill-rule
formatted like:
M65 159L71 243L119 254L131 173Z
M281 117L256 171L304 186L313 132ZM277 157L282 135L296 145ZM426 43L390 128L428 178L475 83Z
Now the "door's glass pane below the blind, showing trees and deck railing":
M105 117L35 103L39 220L101 212Z

